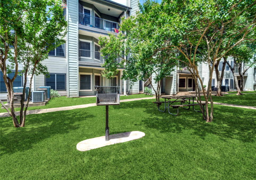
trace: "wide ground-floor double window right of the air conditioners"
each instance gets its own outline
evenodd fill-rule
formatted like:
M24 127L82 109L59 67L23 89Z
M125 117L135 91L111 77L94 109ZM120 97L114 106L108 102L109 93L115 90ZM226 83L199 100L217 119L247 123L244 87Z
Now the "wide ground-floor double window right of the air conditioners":
M54 90L66 90L66 74L49 74L50 78L45 77L45 86L50 86Z

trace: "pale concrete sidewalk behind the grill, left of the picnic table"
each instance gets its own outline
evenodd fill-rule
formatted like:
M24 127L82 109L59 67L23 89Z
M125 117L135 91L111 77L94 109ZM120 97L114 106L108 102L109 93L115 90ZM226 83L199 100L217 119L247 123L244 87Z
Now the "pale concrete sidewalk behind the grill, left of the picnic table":
M138 100L144 100L144 99L155 99L155 97L141 97L141 98L134 98L134 99L124 99L124 100L120 100L120 102L138 101ZM56 112L56 111L66 111L66 110L79 109L79 108L85 108L85 107L91 107L91 106L96 106L96 103L76 105L76 106L66 106L66 107L54 107L54 108L48 108L48 109L29 110L29 111L27 111L26 115L50 113L50 112ZM15 114L17 116L19 116L20 111L16 111ZM1 118L9 117L9 116L10 115L7 112L0 113Z

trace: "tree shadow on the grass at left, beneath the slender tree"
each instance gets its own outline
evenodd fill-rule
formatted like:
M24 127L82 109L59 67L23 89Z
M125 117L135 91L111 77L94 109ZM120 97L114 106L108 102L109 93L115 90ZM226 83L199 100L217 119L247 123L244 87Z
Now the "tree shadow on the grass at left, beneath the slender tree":
M17 150L29 150L34 144L44 141L56 134L65 134L76 130L80 120L93 118L91 113L77 111L58 111L28 115L24 128L13 126L11 117L1 120L1 154L13 154ZM19 116L18 116L19 118Z

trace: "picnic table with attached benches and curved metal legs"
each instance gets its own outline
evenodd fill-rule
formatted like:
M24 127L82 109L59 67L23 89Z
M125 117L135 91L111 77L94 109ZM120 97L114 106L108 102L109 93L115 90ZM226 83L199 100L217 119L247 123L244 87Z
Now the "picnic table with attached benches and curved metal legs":
M194 98L195 98L195 97L196 97L195 95L185 95L185 96L162 96L162 97L160 96L159 98L164 98L164 102L153 102L153 103L158 104L157 109L158 109L159 111L165 112L165 111L166 111L166 100L168 100L168 113L169 113L169 114L172 114L172 115L174 115L174 116L177 116L178 113L179 113L179 107L182 107L183 109L189 110L189 109L190 109L190 106L192 106L192 107L193 107L193 110L194 110L194 111L197 111L197 110L194 109L194 106L197 106L197 105L199 105L199 104L195 104L195 103L194 103ZM190 99L191 99L191 98L192 98L192 100L193 100L193 103L192 103L192 104L190 104ZM175 100L171 100L171 99L175 99ZM171 100L171 101L170 101L170 100ZM174 102L180 102L181 105L172 105ZM184 103L186 103L186 102L187 102L188 104L184 104ZM159 109L159 106L162 105L162 103L164 103L164 110L163 110L163 111ZM203 105L203 109L204 109L205 103L202 103L202 105ZM186 106L187 106L188 108L185 108ZM177 114L170 113L169 107L177 108ZM202 113L202 111L197 111L197 112Z

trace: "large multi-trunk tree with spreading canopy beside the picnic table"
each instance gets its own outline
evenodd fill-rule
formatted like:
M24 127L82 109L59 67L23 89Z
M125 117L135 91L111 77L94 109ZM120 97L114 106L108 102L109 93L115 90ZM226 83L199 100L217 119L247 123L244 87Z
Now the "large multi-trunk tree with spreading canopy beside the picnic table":
M183 62L189 67L193 78L198 79L199 82L195 80L196 94L198 94L196 100L203 119L211 122L213 119L211 81L214 66L255 29L255 3L254 0L246 2L205 0L186 3L181 0L164 0L161 4L146 1L143 6L140 6L140 12L136 14L136 18L140 18L141 21L132 21L131 18L126 32L133 33L129 26L142 27L140 24L143 24L145 27L138 28L140 31L136 33L141 35L133 37L134 44L137 44L140 50L135 53L140 52L139 56L145 57L145 61L149 60L147 57L154 57L155 52L168 50L166 52L169 53L169 59ZM143 36L144 38L141 39L140 37ZM148 36L150 41L144 41ZM112 41L110 40L109 43ZM208 106L205 110L203 109L200 97L199 84L203 87L197 65L200 60L208 64L210 71L207 92L202 89L206 104L210 98L210 117ZM111 64L105 64L105 66L111 66Z

